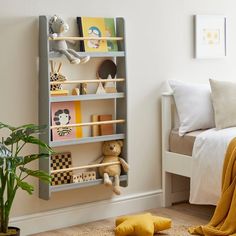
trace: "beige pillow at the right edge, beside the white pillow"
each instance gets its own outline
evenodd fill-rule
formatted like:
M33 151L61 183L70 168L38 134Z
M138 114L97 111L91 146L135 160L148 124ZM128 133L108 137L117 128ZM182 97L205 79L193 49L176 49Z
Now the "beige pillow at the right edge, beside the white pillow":
M216 128L236 126L236 83L210 79Z

